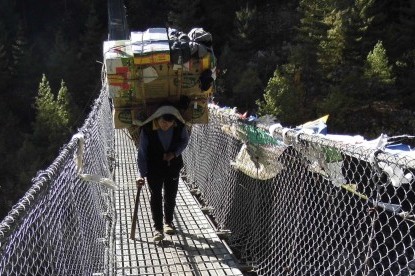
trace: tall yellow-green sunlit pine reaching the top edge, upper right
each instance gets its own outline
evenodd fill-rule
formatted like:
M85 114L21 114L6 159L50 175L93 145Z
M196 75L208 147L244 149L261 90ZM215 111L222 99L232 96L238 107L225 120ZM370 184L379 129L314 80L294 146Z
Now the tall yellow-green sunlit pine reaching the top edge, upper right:
M323 69L325 95L317 103L320 114L330 114L331 128L341 131L348 112L365 105L368 94L363 66L373 21L373 0L335 3L326 14L327 36L320 43L319 62ZM354 100L352 100L354 99ZM350 123L349 123L350 124Z

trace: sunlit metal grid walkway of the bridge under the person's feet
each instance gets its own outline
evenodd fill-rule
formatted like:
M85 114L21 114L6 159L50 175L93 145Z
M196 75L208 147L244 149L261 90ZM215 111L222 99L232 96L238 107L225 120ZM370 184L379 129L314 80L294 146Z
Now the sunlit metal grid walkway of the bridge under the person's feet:
M137 189L136 151L121 130L116 130L115 261L117 275L243 275L229 248L217 236L199 204L182 181L179 184L175 225L177 233L154 243L147 185L140 195L135 240L131 221Z

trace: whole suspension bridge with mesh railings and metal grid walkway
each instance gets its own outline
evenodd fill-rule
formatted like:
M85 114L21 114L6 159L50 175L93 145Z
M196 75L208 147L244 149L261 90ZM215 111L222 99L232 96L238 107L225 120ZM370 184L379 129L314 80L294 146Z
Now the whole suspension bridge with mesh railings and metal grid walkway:
M122 39L125 13L110 2ZM413 275L409 137L310 134L211 105L184 152L177 234L156 244L146 187L130 237L135 148L102 87L0 223L0 275Z

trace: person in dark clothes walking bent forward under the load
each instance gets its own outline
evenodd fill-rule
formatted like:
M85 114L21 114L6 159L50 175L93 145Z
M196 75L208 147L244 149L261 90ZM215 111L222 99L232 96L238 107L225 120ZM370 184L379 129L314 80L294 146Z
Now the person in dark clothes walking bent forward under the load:
M164 105L144 122L140 133L137 149L140 176L137 185L143 185L147 179L155 228L154 241L163 240L164 233L171 235L176 231L173 213L179 174L183 167L181 154L189 142L189 133L184 123L175 107Z

